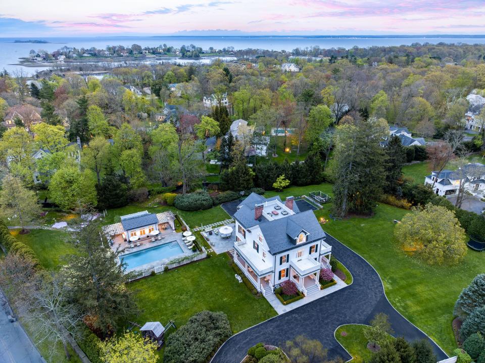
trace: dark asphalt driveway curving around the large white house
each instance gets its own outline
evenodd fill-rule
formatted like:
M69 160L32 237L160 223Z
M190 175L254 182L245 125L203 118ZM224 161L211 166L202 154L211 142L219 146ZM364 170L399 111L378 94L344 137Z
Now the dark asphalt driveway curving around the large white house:
M332 252L352 273L354 282L341 290L312 301L288 313L279 315L243 332L233 335L217 351L211 363L239 363L249 347L259 342L281 346L303 334L318 339L328 348L328 357L351 356L335 340L333 332L344 324L369 324L375 314L389 316L395 336L409 341L426 335L404 319L387 301L377 272L362 257L327 235ZM377 252L376 252L377 253ZM437 344L431 341L438 360L447 358Z

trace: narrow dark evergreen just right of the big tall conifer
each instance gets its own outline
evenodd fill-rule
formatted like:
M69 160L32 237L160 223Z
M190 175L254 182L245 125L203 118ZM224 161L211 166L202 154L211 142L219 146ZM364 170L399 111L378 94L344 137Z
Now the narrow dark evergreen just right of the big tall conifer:
M389 194L400 194L399 181L403 175L401 169L406 161L406 151L399 137L394 136L389 140L385 154L387 156L387 167L384 191Z

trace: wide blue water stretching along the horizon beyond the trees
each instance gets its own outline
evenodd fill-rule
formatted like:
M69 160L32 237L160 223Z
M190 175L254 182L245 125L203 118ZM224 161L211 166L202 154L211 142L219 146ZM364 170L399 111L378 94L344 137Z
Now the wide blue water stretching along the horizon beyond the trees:
M131 46L138 44L144 46L158 46L167 44L175 47L195 44L208 49L210 46L221 49L233 46L234 49L272 49L293 50L297 47L305 48L319 46L321 48L353 46L369 47L379 45L410 45L412 43L485 43L485 35L477 36L127 36L127 37L70 37L70 38L36 38L28 39L45 40L49 43L14 43L15 40L27 38L0 38L0 69L12 72L22 68L28 74L33 74L45 68L31 68L15 66L19 58L28 57L30 49L47 51L57 50L64 45L76 48L106 48L108 45ZM207 61L206 61L207 62Z

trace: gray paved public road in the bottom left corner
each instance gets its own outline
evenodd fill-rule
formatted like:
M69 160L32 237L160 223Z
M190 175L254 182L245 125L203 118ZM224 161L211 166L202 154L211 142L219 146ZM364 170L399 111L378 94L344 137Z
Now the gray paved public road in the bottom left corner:
M45 363L18 322L10 323L0 306L0 362Z

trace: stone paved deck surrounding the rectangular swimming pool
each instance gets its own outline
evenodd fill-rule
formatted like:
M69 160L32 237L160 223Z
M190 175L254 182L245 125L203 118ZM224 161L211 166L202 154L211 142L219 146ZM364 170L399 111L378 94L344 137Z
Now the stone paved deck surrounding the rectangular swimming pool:
M191 249L187 248L185 243L182 241L182 238L183 238L182 233L177 233L173 231L171 228L168 228L165 231L160 231L160 234L165 238L161 240L155 240L155 242L151 242L151 238L148 238L146 240L139 240L138 242L140 242L141 245L135 246L133 248L129 247L129 243L123 241L123 237L121 237L121 235L118 235L113 238L114 243L111 248L113 250L120 248L120 250L122 251L121 257L123 256L123 254L139 252L147 248L161 246L163 244L172 243L174 241L178 242L180 248L182 248L182 251L183 251L182 253L179 253L174 256L170 256L169 258L163 258L162 260L157 260L149 264L136 266L132 269L127 269L126 270L127 272L136 271L136 270L141 270L141 271L150 270L155 267L165 265L169 261L173 260L174 258L181 257L181 256L188 256L194 253Z

